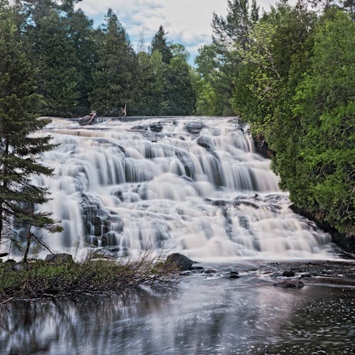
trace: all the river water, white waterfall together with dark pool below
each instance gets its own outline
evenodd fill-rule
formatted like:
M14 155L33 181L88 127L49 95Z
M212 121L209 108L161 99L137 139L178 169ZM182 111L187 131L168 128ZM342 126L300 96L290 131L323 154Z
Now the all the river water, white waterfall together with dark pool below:
M43 236L53 251L178 251L212 273L123 298L9 302L0 354L354 354L354 263L320 264L300 289L273 285L290 261L298 279L339 257L289 208L238 119L54 119L48 132L55 175L35 183L53 199L38 208L64 227Z

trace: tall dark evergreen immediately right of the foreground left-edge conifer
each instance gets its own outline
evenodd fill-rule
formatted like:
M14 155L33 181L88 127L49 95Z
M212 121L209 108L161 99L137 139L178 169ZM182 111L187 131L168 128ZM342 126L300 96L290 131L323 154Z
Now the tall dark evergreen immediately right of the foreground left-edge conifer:
M38 64L38 93L45 100L43 114L72 116L80 90L80 74L69 21L54 1L26 1L26 48ZM24 9L27 9L26 6Z

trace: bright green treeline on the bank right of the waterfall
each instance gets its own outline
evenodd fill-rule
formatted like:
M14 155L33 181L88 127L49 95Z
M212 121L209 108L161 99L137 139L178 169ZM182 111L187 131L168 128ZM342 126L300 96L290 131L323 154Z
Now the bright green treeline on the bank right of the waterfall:
M214 14L197 113L239 114L297 209L354 235L354 1L313 4L281 1L259 18L255 0L233 0Z

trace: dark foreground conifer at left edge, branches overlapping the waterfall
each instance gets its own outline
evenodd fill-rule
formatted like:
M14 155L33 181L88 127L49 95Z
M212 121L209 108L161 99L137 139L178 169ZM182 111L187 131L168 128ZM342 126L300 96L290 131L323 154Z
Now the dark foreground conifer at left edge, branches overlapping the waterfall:
M41 153L53 148L50 136L32 136L48 121L35 115L41 100L36 94L33 72L20 31L13 21L13 8L4 1L0 6L0 241L11 234L13 223L59 231L60 225L49 212L36 212L35 204L48 201L48 190L33 185L33 175L51 175L53 170L42 165Z

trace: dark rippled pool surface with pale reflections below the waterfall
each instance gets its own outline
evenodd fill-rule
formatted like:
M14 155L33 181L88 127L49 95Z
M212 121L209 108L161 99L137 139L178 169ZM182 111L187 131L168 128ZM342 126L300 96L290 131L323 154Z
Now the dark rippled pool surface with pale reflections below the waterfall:
M351 354L354 288L193 275L176 290L2 307L1 354Z

